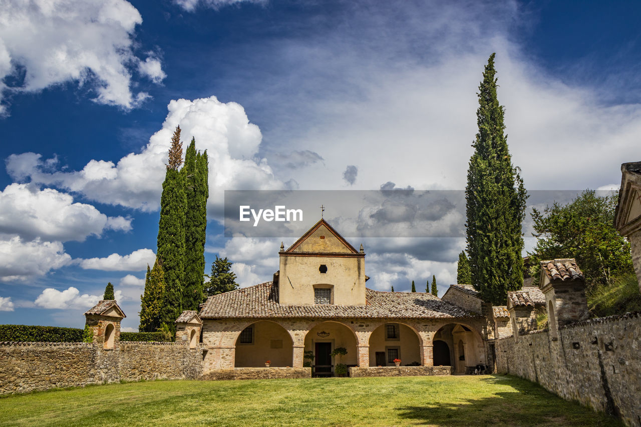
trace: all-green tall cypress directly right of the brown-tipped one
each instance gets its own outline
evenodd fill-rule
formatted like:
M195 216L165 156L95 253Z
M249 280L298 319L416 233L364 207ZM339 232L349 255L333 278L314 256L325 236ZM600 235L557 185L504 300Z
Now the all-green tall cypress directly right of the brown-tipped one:
M185 282L183 310L197 310L203 301L204 240L207 226L207 154L196 153L196 140L187 147L181 176L185 184Z

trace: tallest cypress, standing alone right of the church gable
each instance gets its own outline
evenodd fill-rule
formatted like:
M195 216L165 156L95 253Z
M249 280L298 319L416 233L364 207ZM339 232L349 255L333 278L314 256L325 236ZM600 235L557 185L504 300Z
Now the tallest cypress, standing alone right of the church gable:
M479 85L478 133L465 188L465 228L471 284L486 301L504 305L506 291L520 289L523 283L521 222L528 196L504 134L494 56L490 55Z

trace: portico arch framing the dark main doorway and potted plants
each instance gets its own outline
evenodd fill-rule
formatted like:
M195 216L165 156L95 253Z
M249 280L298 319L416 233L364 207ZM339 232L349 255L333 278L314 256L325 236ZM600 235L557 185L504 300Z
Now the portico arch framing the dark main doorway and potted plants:
M345 324L324 321L315 324L305 335L304 351L312 351L312 373L317 376L331 376L336 364L356 366L358 353L356 334ZM347 354L331 357L330 353L344 347Z

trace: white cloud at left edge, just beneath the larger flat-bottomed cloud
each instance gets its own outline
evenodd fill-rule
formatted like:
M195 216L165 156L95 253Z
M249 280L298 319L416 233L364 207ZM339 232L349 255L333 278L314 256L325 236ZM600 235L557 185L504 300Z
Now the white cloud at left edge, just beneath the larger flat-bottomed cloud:
M70 263L71 256L60 242L24 242L18 236L0 239L0 280L24 281Z

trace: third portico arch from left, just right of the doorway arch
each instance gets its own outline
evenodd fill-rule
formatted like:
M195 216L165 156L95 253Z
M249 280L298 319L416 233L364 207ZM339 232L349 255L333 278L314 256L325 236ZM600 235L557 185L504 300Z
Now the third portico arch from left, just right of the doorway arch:
M422 365L423 339L413 326L404 322L381 323L369 336L370 366L393 366L394 358L400 358L403 365Z

